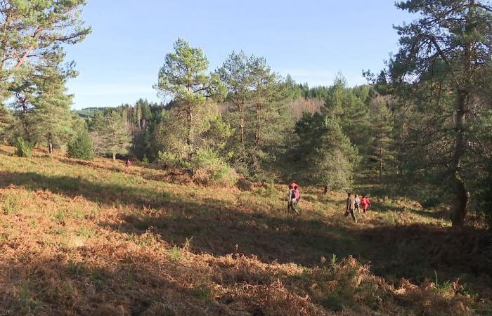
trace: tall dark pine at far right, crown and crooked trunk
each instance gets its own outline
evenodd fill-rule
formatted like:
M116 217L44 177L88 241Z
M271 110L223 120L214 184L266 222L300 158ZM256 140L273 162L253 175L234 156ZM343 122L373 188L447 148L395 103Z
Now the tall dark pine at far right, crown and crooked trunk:
M401 86L412 88L417 102L434 109L434 126L427 131L436 133L426 135L432 147L445 148L445 176L455 196L452 221L462 225L470 196L463 169L472 153L470 112L483 107L477 89L488 84L484 79L491 65L492 7L481 0L408 0L396 6L420 18L396 27L400 49L389 62L391 79L406 83Z

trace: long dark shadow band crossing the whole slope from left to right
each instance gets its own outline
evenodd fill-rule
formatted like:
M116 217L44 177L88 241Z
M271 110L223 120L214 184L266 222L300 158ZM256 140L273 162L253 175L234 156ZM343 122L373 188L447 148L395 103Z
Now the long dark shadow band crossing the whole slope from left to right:
M190 249L195 253L238 252L267 263L308 267L318 265L321 256L352 255L362 263L370 261L378 275L408 277L416 282L432 276L434 270L446 272L448 279L462 274L491 275L492 238L484 232L459 232L433 225L359 228L290 216L280 210L228 206L215 199L193 200L138 185L93 183L37 173L0 173L0 185L10 184L31 190L48 189L68 197L82 195L101 204L134 206L131 213L122 212L119 218L99 224L130 235L150 231L174 246L182 246L193 237Z

